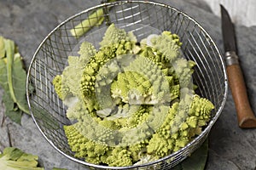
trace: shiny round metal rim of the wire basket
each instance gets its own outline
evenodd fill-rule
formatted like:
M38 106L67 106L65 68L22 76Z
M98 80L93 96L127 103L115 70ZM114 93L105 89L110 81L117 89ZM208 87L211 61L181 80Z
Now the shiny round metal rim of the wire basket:
M34 61L36 60L37 55L38 55L40 49L44 45L44 42L46 42L49 39L49 37L56 30L58 30L61 26L64 26L68 21L73 20L74 18L78 17L79 15L85 14L87 12L90 12L91 10L94 10L96 8L102 8L104 6L109 6L109 5L110 6L118 6L118 5L122 5L122 4L125 4L125 3L145 3L145 4L152 4L152 5L160 6L160 7L164 7L164 8L170 8L170 9L176 11L179 14L183 14L184 17L186 17L189 20L193 21L194 24L196 26L198 26L201 29L201 31L203 31L206 34L206 36L209 38L208 39L209 42L212 43L213 48L216 50L216 52L218 54L218 58L221 60L221 66L222 66L222 69L223 69L223 72L224 72L224 98L223 98L223 100L221 102L221 105L218 108L218 111L215 113L215 116L213 116L211 121L208 122L207 127L205 127L203 129L203 131L201 132L200 135L198 135L195 139L190 141L189 144L185 145L181 150L177 150L176 152L173 152L172 154L170 154L168 156L162 157L162 158L160 158L160 159L158 159L156 161L150 161L150 162L142 164L142 165L136 165L136 166L132 165L132 166L127 166L127 167L109 167L109 166L102 166L102 165L92 164L92 163L89 163L89 162L86 162L86 161L81 161L81 160L79 160L79 159L77 159L77 158L75 158L73 156L69 156L66 153L64 153L61 149L59 149L57 146L55 146L55 144L50 139L47 138L47 136L44 134L43 130L39 126L36 117L32 113L32 107L31 107L30 95L29 95L30 72L32 70L32 65L33 65ZM138 168L138 167L148 167L148 166L152 166L154 164L158 164L161 161L166 161L166 160L168 160L171 157L175 157L175 156L179 155L180 153L183 152L183 150L187 150L189 147L193 146L193 144L195 144L198 140L201 140L201 139L203 139L204 137L206 137L208 135L208 133L210 132L210 130L211 130L212 126L213 126L213 124L217 121L218 116L220 116L221 112L224 109L224 105L225 105L225 102L227 100L227 95L228 95L228 79L227 79L227 72L226 72L225 65L224 65L224 59L223 59L222 55L220 54L220 52L218 50L217 44L212 40L212 37L209 35L209 33L201 26L201 24L199 22L197 22L194 18L190 17L189 14L186 14L186 13L184 13L181 10L179 10L179 9L177 9L175 7L172 7L170 5L167 5L165 3L155 3L155 2L143 1L143 0L125 0L125 1L121 0L121 1L113 2L113 3L102 3L102 4L99 4L99 5L96 5L96 6L87 8L87 9L84 9L81 12L79 12L77 14L73 14L72 16L67 18L66 20L62 21L58 26L55 26L55 28L52 31L50 31L49 34L46 37L44 37L44 40L42 42L40 42L40 44L38 45L38 48L36 49L35 53L32 56L32 60L31 60L31 63L29 65L29 67L28 67L27 76L26 76L26 99L27 99L27 104L29 106L29 110L30 110L30 113L32 115L33 122L35 122L35 124L38 127L40 133L42 133L42 135L44 136L44 139L46 139L49 142L49 144L53 148L55 148L55 150L57 150L59 153L61 153L61 155L66 156L70 160L79 162L79 163L81 163L81 164L83 164L85 166L96 167L96 168L104 168L104 169L131 169L131 168ZM184 157L183 159L185 159L185 158L186 157Z

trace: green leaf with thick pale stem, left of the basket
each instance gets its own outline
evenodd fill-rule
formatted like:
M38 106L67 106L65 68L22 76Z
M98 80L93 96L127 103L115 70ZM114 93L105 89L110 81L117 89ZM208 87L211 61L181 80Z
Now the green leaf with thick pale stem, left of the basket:
M4 90L5 113L14 122L20 123L21 113L29 114L26 102L26 71L23 69L20 54L15 52L15 43L0 37L0 55L3 48L4 56L0 57L0 86Z

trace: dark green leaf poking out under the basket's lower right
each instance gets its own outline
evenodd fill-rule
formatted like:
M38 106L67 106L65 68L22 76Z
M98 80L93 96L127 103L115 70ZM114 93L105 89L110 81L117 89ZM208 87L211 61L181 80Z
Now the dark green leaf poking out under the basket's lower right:
M207 156L208 139L191 156L173 167L172 170L204 170L207 164Z

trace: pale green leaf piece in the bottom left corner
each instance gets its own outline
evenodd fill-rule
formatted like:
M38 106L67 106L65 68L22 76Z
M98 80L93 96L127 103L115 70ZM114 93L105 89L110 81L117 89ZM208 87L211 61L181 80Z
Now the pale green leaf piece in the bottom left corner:
M14 147L8 147L0 154L0 169L5 170L44 170L38 167L38 156L27 154Z

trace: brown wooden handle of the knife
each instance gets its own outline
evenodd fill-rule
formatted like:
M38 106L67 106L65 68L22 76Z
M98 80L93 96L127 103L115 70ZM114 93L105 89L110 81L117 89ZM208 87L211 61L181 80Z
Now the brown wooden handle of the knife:
M247 88L239 64L228 65L230 89L236 105L238 125L242 128L256 127L256 118L247 98Z

